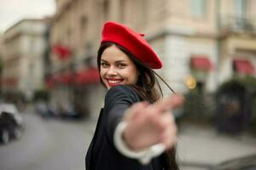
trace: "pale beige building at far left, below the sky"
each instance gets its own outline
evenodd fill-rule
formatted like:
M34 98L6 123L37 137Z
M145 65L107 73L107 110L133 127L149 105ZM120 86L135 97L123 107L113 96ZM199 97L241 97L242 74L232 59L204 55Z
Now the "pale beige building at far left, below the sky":
M48 30L49 20L20 20L4 32L4 93L24 94L30 100L36 90L44 88Z

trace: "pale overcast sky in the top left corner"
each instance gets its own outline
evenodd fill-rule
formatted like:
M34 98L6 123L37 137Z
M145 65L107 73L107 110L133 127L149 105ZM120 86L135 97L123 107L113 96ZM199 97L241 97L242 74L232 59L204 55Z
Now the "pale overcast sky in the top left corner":
M55 0L0 0L0 33L23 19L55 14Z

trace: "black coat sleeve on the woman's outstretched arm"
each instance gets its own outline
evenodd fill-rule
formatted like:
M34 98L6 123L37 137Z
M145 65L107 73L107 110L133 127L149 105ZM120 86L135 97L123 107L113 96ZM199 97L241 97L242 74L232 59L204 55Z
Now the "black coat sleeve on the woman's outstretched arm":
M111 144L113 144L114 130L122 120L125 111L139 101L138 95L128 86L119 85L108 90L105 97L104 117L105 129Z

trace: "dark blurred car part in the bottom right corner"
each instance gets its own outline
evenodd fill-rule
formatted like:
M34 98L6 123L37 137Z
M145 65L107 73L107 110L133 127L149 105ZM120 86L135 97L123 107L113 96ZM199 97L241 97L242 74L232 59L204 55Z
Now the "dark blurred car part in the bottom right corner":
M224 161L210 170L256 170L256 154Z

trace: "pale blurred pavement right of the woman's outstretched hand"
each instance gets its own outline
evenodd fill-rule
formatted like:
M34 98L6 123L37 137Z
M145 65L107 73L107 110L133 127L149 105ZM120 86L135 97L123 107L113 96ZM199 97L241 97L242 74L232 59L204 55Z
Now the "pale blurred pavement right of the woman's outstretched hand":
M219 162L252 154L256 154L256 138L247 134L229 136L216 133L213 127L191 124L183 124L178 133L177 156L184 170L207 169Z

